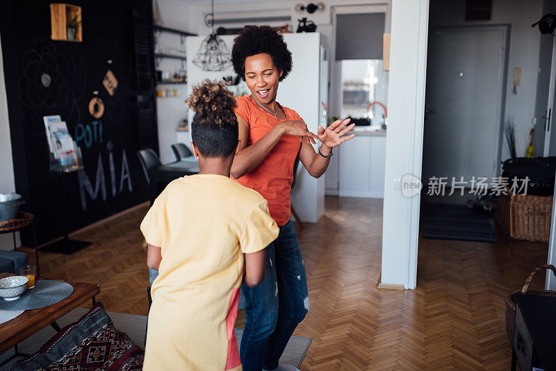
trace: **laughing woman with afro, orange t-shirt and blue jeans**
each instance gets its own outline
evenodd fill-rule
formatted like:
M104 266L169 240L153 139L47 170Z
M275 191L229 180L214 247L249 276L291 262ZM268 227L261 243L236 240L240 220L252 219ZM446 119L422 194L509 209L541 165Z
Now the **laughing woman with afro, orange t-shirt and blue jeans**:
M283 36L269 26L245 28L234 40L231 61L251 94L236 99L240 145L230 174L268 201L280 229L266 248L263 282L241 287L246 319L240 357L247 371L297 370L278 363L309 311L304 261L290 220L293 164L299 156L307 172L318 178L328 167L332 149L354 137L345 135L354 124L338 120L326 129L318 126L315 135L295 110L276 101L292 57ZM316 140L322 143L318 153L311 146Z

